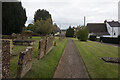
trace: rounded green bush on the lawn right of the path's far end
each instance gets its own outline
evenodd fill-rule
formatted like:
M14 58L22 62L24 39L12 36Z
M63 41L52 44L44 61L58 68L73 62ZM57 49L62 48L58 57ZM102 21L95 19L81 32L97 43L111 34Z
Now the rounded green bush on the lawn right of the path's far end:
M88 28L85 26L82 26L78 31L77 31L77 38L81 41L87 41L88 40Z

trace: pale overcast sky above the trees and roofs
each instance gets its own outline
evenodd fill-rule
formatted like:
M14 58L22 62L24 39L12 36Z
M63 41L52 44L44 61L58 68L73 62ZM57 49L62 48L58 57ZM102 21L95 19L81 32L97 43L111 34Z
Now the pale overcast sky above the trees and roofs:
M118 20L119 0L21 0L26 8L28 20L31 23L38 9L46 9L52 19L61 29L70 25L83 25L84 16L87 23Z

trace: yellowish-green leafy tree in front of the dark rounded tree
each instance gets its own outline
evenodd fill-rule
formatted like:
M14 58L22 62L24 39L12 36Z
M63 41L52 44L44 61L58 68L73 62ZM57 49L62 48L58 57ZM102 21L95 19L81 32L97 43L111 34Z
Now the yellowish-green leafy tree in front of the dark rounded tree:
M47 20L37 20L34 23L34 26L35 26L35 32L43 36L50 34L53 29L53 25L51 24L50 18Z

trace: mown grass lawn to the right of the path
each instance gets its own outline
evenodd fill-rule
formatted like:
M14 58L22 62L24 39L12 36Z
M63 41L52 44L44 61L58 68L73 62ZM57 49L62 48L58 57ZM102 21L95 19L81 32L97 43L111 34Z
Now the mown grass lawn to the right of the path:
M118 48L73 39L91 78L118 78L118 65L106 63L101 57L118 57Z

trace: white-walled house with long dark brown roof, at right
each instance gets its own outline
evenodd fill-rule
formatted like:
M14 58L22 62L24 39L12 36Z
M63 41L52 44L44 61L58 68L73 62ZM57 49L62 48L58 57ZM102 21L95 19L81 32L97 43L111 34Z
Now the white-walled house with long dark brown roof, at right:
M105 21L104 23L88 23L89 35L103 37L118 37L120 35L120 23L118 21Z

